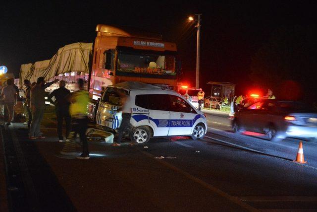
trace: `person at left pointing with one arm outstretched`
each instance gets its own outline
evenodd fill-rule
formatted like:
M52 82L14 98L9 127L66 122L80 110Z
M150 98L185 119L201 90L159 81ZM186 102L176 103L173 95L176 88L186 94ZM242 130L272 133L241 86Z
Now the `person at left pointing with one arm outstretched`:
M31 88L30 109L32 113L32 122L30 125L29 139L45 139L45 136L43 136L40 131L41 121L45 111L45 88L50 87L57 81L58 79L55 79L52 82L45 83L45 78L41 76L38 78L36 85Z

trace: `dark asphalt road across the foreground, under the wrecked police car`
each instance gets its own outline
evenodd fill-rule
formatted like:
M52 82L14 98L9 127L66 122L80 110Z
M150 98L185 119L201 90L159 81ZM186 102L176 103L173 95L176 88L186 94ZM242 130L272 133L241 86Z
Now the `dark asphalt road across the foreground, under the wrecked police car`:
M90 141L91 158L80 160L62 158L51 125L43 128L48 138L36 141L26 139L22 124L1 129L12 211L317 209L316 143L304 143L308 163L301 165L292 162L298 141L235 135L219 124L202 141L159 138L120 147Z

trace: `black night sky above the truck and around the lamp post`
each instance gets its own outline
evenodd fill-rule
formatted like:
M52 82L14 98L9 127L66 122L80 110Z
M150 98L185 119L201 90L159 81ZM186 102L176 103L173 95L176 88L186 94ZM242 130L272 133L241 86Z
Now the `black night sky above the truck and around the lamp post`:
M202 13L201 85L237 83L249 89L251 58L279 27L311 25L314 1L9 1L1 3L0 65L18 76L20 65L50 59L57 49L93 42L98 23L136 27L176 42L183 81L194 86L196 29L190 14Z

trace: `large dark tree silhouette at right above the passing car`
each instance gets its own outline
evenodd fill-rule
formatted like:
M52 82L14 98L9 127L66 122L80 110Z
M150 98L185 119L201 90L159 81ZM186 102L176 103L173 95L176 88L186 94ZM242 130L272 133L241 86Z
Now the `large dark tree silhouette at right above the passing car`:
M272 88L280 98L316 101L316 38L316 26L277 29L252 58L250 78L262 88ZM287 82L292 83L288 86ZM298 87L304 95L294 94Z

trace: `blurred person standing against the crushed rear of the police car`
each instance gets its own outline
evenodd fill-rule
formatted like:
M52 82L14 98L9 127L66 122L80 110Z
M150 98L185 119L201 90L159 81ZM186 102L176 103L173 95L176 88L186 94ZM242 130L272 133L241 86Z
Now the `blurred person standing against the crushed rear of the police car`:
M119 95L120 95L121 107L118 109L118 111L122 112L122 121L121 121L120 127L118 128L117 139L115 142L112 143L112 146L121 145L121 139L122 139L123 133L129 130L129 123L130 123L131 112L132 112L130 98L127 95L125 95L123 92L119 93ZM134 144L133 141L131 141L130 145L133 145L133 144Z

